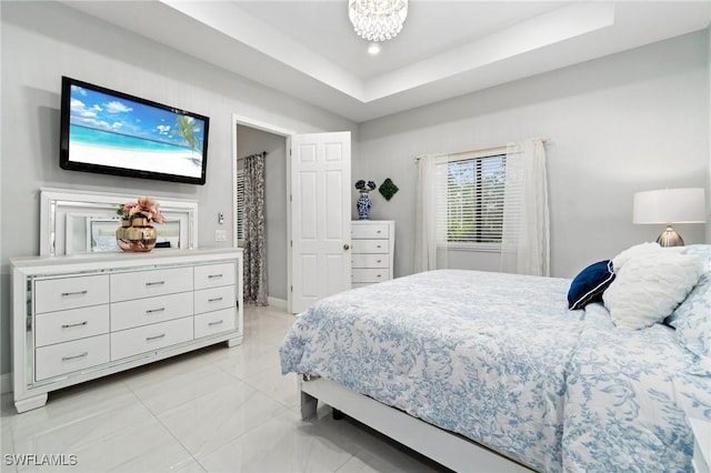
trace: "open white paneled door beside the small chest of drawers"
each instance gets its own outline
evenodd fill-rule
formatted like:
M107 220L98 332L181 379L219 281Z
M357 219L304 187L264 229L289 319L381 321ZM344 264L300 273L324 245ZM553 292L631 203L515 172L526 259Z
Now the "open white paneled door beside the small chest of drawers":
M351 133L289 138L289 310L351 286Z

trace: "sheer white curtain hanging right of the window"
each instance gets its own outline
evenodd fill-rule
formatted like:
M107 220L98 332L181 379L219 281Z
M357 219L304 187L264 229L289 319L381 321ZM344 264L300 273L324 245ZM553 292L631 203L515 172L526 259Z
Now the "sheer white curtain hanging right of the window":
M541 139L507 147L501 271L550 275L545 148Z

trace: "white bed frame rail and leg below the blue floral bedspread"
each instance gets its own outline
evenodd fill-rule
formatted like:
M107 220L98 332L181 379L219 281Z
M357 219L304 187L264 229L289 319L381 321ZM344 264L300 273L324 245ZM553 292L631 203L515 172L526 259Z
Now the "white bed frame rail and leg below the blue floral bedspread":
M323 378L299 374L301 417L316 416L321 402L454 471L531 472L485 446L439 429Z

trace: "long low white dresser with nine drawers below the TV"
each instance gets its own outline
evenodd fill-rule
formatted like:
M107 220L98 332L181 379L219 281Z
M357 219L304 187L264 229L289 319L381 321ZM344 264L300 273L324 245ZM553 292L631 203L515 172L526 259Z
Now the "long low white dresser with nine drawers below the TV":
M18 412L47 393L202 346L242 341L242 250L16 259Z

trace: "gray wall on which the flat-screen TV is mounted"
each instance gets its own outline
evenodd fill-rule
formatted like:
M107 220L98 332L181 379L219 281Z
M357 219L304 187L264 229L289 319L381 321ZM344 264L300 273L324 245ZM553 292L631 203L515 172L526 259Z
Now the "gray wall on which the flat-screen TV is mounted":
M9 260L39 253L41 187L199 201L201 246L232 241L232 114L301 133L356 123L56 2L0 2L2 258L0 373L10 372ZM59 168L61 76L210 117L207 184L117 178ZM354 138L356 139L356 138ZM222 212L226 224L218 224ZM8 229L12 229L8 233ZM214 230L228 229L216 243Z

